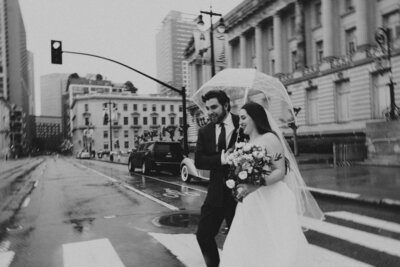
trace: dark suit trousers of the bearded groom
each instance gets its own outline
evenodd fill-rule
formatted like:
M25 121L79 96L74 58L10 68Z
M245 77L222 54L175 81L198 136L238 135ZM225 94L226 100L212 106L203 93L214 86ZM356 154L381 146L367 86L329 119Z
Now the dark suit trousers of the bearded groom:
M196 237L208 267L218 267L219 265L219 252L215 237L224 219L226 225L231 226L235 209L236 202L234 201L225 204L224 207L215 207L209 204L201 207Z

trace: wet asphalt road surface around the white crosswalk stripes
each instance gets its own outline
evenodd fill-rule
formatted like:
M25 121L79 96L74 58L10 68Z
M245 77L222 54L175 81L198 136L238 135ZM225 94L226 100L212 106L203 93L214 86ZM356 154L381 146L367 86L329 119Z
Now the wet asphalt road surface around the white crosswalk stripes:
M108 239L124 266L184 266L149 233L192 234L206 182L189 185L169 173L129 173L126 165L47 158L32 173L39 181L4 240L11 266L65 266L63 245ZM146 196L139 194L144 193ZM400 224L395 209L318 198L324 212L347 211ZM327 216L326 222L400 241L400 232ZM357 241L310 229L311 244L373 266L399 266L400 258ZM224 234L218 236L222 247Z

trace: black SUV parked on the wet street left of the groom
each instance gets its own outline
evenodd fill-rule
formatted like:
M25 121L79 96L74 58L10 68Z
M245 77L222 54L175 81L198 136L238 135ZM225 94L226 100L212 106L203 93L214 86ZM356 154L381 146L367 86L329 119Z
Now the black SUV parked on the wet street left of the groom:
M134 172L135 168L141 168L144 174L151 170L167 170L178 174L182 159L183 150L179 142L146 142L130 153L128 169Z

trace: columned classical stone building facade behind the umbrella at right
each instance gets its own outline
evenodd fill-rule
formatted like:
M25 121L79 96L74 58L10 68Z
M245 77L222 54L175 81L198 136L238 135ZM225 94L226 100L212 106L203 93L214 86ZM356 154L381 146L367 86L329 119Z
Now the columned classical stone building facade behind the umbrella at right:
M300 138L364 142L367 123L390 109L390 76L400 102L396 0L243 1L224 20L227 67L280 78L301 108ZM391 66L375 40L379 27L390 29Z

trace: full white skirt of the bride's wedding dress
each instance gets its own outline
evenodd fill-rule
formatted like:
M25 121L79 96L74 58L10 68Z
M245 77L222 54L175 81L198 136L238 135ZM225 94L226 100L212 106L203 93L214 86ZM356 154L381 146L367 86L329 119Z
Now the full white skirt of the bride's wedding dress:
M308 266L307 248L295 195L279 181L261 186L238 203L220 266Z

